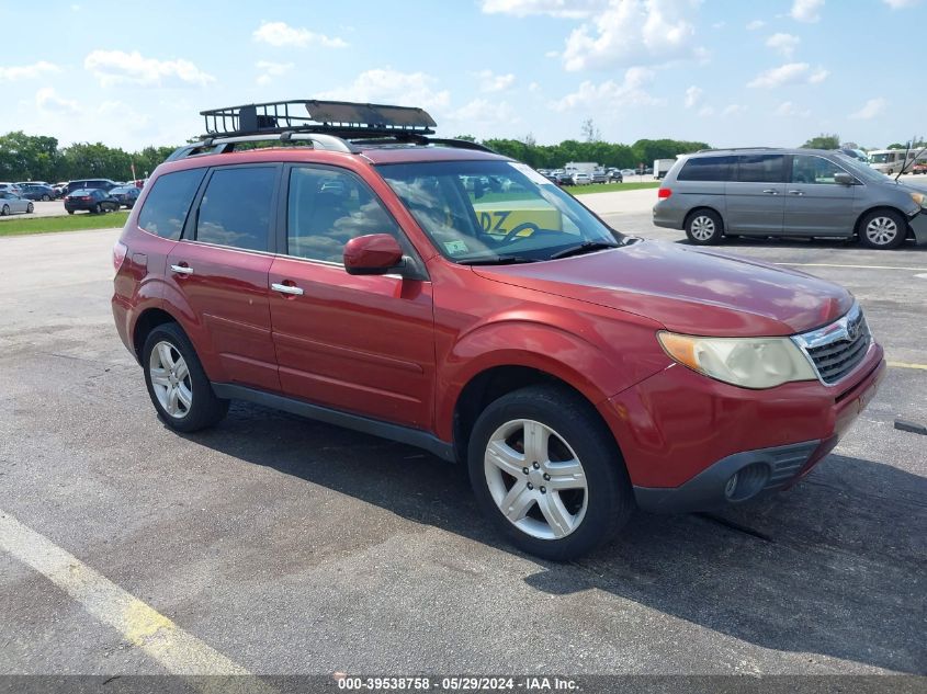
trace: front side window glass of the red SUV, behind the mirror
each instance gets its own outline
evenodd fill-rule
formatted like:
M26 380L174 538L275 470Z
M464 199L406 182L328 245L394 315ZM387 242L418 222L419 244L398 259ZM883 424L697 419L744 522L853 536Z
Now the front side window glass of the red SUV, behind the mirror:
M290 172L287 253L341 263L344 244L358 236L392 234L399 228L373 191L357 177L331 169L294 168Z

